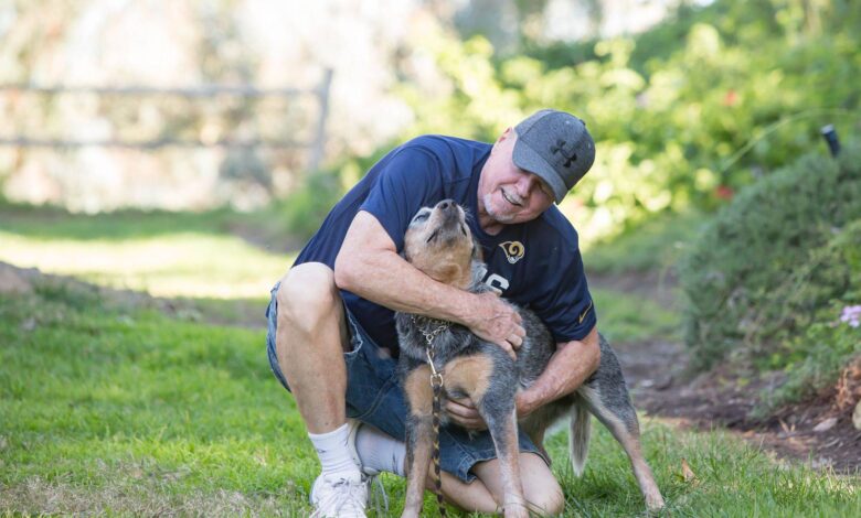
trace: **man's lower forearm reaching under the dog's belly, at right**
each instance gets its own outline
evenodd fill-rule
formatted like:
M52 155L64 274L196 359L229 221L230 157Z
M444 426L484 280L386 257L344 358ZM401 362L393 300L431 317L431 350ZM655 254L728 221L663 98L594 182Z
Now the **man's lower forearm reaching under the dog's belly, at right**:
M597 328L593 328L583 341L560 344L541 376L529 389L518 395L518 413L527 416L572 393L592 376L599 363Z

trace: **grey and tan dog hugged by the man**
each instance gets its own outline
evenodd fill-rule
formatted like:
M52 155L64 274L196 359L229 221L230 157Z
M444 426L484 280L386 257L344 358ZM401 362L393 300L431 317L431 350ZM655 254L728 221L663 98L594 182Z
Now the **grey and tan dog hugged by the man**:
M451 201L419 209L406 230L404 258L433 279L472 293L492 291L481 282L486 271L466 224L466 213ZM513 304L512 304L513 306ZM574 392L532 412L518 423L514 397L530 387L550 361L555 342L539 317L517 307L527 331L517 360L501 347L482 341L463 325L448 324L407 313L395 313L398 375L407 400L407 487L404 517L422 511L424 484L429 470L433 441L431 377L444 376L446 397L469 397L487 423L500 462L506 517L529 516L518 465L518 425L542 447L545 430L560 418L571 417L570 458L574 472L583 473L589 441L589 413L621 444L649 510L663 507L663 498L642 457L637 413L616 354L603 336L597 370ZM434 369L428 364L433 357ZM444 411L443 411L444 412ZM443 416L445 419L445 416Z

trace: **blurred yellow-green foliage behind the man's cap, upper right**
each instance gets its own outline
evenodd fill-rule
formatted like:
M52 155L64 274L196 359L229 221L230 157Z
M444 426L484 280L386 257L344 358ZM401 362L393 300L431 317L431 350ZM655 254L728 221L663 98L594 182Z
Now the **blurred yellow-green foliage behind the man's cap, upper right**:
M415 35L416 58L431 61L447 88L402 83L416 121L404 140L493 141L543 107L580 116L598 149L573 195L588 242L656 213L719 207L821 147L817 129L827 122L857 130L860 25L861 12L842 0L723 0L682 4L636 37L525 42L527 53L511 57L482 36L427 30Z

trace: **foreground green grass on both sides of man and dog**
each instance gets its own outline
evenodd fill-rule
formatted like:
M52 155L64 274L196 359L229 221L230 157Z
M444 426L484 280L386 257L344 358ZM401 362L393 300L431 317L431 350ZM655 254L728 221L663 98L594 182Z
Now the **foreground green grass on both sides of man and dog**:
M264 333L106 305L41 284L0 298L0 510L307 516L318 470ZM583 478L549 446L567 516L631 516L642 501L599 427ZM776 464L721 433L646 420L646 455L674 516L852 516L858 479ZM681 477L687 458L699 485ZM392 512L403 481L386 477ZM433 508L429 505L428 508Z

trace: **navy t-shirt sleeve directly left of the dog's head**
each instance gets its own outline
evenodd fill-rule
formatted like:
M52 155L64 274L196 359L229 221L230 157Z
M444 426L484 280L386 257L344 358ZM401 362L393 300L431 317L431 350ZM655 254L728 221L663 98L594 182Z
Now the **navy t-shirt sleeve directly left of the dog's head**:
M425 149L407 147L382 168L359 209L373 215L401 251L413 216L419 208L442 199L443 172L438 159Z

